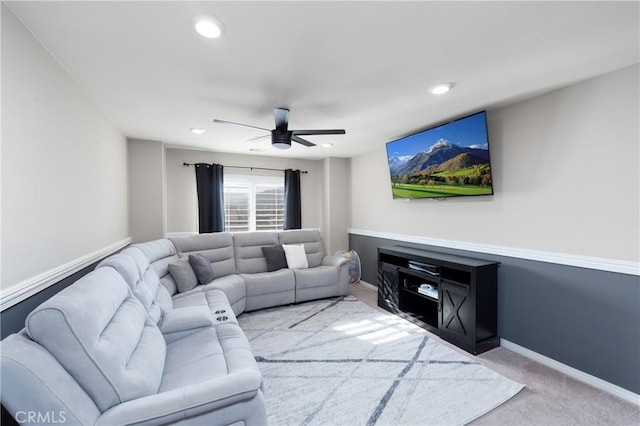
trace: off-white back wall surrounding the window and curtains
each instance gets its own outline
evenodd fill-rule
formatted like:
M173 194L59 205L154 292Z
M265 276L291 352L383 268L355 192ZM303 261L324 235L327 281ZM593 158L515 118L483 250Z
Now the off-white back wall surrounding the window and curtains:
M302 196L302 227L321 228L323 169L316 160L297 160L291 158L260 157L198 151L177 148L166 149L166 185L167 185L167 232L197 232L198 197L194 168L183 163L218 163L224 166L264 167L273 169L307 170L300 176ZM283 172L249 171L225 168L226 173L263 174L283 176Z

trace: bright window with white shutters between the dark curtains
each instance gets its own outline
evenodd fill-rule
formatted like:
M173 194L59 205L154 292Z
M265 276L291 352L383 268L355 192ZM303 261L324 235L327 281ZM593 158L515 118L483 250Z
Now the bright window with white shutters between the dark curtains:
M224 177L225 231L270 231L284 226L284 178Z

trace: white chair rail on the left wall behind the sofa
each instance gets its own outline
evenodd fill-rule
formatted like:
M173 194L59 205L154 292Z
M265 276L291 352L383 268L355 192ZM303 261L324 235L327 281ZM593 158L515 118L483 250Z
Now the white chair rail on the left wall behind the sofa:
M0 292L0 312L22 302L34 294L52 286L72 274L75 274L79 270L86 268L92 263L102 259L103 257L109 256L129 244L131 244L130 237L110 244L107 247L103 247L78 259L74 259L64 265L58 266L57 268L45 271L35 277L23 280L7 289L3 289L2 292Z

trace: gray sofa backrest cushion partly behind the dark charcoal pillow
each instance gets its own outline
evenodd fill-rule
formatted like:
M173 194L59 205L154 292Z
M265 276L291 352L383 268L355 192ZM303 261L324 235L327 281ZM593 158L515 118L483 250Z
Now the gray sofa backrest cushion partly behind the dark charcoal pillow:
M233 246L236 259L236 273L255 274L267 272L267 260L262 247L278 244L276 232L235 232Z

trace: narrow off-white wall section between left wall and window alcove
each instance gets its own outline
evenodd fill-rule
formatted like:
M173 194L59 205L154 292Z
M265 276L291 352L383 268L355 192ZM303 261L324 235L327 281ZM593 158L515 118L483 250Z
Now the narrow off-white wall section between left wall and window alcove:
M167 232L164 144L129 139L129 229L133 242L164 238Z

